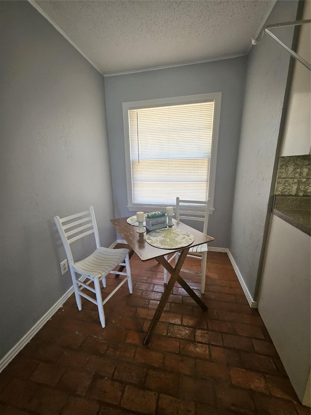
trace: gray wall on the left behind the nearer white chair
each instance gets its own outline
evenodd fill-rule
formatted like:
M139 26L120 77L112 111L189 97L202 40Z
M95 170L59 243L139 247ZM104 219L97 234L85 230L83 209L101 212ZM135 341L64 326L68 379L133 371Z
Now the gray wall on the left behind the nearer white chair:
M27 1L0 16L1 359L72 285L54 215L92 204L115 230L104 77Z

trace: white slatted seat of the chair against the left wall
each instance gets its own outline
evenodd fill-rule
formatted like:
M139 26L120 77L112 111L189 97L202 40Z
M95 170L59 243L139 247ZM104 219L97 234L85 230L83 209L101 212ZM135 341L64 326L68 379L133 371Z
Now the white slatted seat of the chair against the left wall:
M73 264L74 271L93 278L101 278L124 261L128 249L99 248L85 259Z

